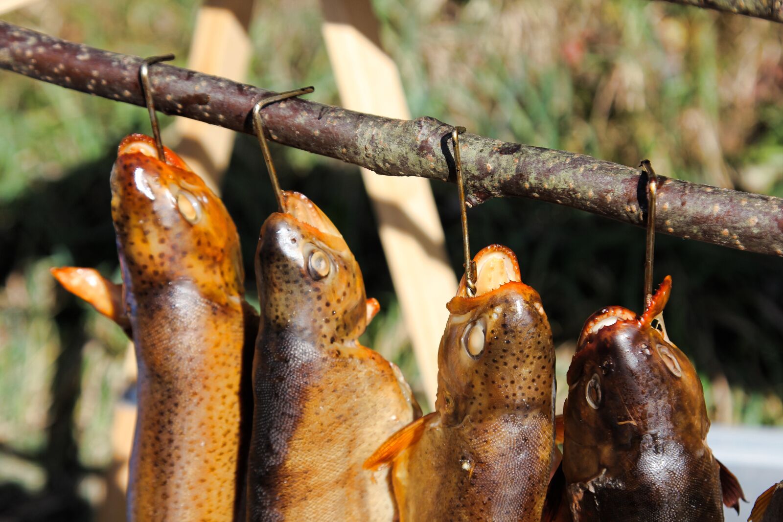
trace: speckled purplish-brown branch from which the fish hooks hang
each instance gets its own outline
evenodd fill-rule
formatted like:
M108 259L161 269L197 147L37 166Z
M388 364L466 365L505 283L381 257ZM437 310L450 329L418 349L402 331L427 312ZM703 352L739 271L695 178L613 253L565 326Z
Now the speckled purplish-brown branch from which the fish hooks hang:
M161 52L165 49L161 49ZM141 59L93 49L0 21L0 69L143 106ZM251 110L272 92L157 63L150 67L158 110L253 133ZM452 127L357 113L305 99L264 109L270 139L382 175L453 182ZM644 224L644 175L582 154L460 138L467 200L521 196L632 225ZM655 228L685 239L783 256L783 199L659 176Z

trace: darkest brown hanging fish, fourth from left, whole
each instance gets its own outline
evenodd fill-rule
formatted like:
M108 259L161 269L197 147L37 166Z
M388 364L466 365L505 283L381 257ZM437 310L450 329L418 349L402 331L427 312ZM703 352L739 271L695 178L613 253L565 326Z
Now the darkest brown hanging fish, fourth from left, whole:
M622 307L587 319L568 369L562 470L572 520L690 522L739 511L737 479L705 442L702 383L655 319Z

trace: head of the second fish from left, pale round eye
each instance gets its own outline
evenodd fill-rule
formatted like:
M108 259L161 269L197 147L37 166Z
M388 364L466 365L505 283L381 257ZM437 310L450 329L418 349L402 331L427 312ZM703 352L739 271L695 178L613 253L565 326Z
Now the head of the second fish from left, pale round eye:
M309 332L324 346L351 344L368 315L359 264L337 227L306 196L283 192L283 210L266 219L258 239L263 320L274 329Z

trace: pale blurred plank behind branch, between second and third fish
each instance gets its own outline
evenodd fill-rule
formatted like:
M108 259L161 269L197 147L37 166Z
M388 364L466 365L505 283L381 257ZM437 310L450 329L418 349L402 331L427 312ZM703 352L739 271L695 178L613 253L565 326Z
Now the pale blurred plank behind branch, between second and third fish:
M399 70L381 49L369 0L322 0L323 38L346 108L410 119ZM438 345L456 290L429 182L362 169L402 317L430 405L438 390ZM456 198L456 192L454 194Z

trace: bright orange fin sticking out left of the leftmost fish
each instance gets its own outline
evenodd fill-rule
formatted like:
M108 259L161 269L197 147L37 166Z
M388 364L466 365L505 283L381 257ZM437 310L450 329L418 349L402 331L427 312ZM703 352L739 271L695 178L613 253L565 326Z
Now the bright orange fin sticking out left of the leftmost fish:
M65 266L49 268L49 272L65 290L92 304L92 308L130 332L131 322L122 302L122 285L112 283L94 268Z

